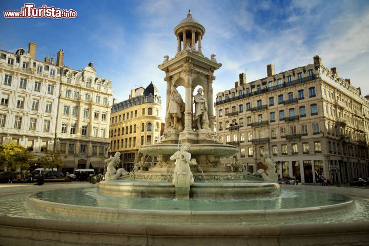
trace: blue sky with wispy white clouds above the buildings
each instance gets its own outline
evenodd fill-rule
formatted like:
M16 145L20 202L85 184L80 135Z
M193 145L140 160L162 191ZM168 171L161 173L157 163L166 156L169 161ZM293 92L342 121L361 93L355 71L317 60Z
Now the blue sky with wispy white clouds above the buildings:
M4 10L25 3L73 9L76 18L5 18ZM64 64L83 69L93 61L97 76L112 80L114 98L128 99L130 90L153 81L165 105L165 73L157 66L174 57L175 26L188 10L206 28L201 45L206 57L216 54L214 96L247 81L313 63L318 54L327 68L350 78L369 94L369 1L4 1L0 0L0 49L15 52L37 44L36 58L55 57L64 49ZM165 111L165 110L163 110Z

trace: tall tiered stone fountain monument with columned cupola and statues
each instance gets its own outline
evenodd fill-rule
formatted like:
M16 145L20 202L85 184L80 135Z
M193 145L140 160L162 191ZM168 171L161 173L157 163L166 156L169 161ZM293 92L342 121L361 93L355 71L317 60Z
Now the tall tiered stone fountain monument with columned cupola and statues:
M273 176L272 169L269 174L259 172L261 178L250 176L255 180L251 183L245 182L244 169L231 172L220 162L233 157L237 148L223 145L214 132L213 80L221 64L214 54L210 58L202 54L204 33L205 28L190 11L174 28L177 53L171 59L164 56L158 66L166 73L167 82L165 131L158 144L140 148L134 172L124 173L122 178L117 170L113 179L100 182L100 194L177 198L279 195L275 169ZM186 89L183 97L177 90L180 86ZM156 158L157 163L152 166L148 158Z

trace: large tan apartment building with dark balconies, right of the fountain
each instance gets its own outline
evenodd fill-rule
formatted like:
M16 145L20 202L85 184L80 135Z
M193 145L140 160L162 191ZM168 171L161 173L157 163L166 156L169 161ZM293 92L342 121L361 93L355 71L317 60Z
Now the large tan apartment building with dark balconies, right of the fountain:
M239 148L249 172L262 168L264 150L278 161L280 177L318 182L321 175L344 182L369 175L369 101L350 79L338 77L321 58L217 93L216 130ZM223 160L226 165L232 158Z

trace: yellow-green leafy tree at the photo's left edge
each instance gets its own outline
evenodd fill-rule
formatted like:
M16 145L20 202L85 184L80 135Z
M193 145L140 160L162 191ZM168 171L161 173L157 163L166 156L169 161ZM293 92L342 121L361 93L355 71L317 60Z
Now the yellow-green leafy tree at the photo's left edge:
M17 142L9 142L6 145L0 145L0 169L15 171L16 169L29 169L28 160L34 156L28 150Z

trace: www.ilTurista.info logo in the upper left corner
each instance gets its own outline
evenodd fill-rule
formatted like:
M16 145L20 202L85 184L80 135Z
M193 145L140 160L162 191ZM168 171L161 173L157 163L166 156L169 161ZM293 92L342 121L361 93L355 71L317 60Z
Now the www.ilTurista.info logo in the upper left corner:
M7 10L4 11L5 18L76 18L77 11L70 9L57 9L54 6L47 7L43 5L40 8L35 8L34 4L25 4L19 10Z

